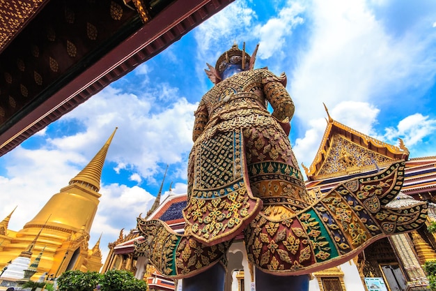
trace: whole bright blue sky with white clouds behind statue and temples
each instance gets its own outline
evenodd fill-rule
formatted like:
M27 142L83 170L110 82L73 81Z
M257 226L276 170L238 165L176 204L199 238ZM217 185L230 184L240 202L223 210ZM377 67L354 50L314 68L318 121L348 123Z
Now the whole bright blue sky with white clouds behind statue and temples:
M135 227L164 183L186 193L193 112L212 83L205 63L236 41L260 47L256 68L288 75L290 141L311 165L333 119L410 157L436 155L436 3L236 0L164 52L0 157L0 218L20 230L118 127L102 174L90 245L102 252Z

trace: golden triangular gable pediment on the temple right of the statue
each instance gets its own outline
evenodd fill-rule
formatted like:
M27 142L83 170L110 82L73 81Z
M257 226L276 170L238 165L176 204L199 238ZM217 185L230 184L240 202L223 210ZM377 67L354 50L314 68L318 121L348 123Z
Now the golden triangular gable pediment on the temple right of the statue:
M350 176L407 160L409 151L359 133L329 119L313 163L306 170L309 181Z

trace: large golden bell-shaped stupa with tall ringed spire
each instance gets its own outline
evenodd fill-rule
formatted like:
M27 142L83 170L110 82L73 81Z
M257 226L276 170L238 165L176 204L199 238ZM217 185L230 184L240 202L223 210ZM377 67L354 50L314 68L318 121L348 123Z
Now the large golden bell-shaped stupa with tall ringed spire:
M32 261L43 250L33 278L44 273L56 278L70 269L100 270L100 239L93 248L88 248L88 241L100 202L102 167L115 132L116 129L88 165L53 195L22 230L8 230L13 211L0 222L0 269L30 249Z

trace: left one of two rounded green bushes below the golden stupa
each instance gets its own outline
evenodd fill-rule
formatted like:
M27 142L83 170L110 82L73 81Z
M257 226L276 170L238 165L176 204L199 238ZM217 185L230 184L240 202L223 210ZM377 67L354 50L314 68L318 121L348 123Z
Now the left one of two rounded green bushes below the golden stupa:
M65 271L58 278L59 291L93 291L101 279L95 271Z

